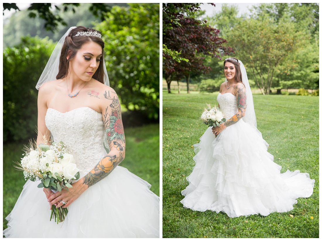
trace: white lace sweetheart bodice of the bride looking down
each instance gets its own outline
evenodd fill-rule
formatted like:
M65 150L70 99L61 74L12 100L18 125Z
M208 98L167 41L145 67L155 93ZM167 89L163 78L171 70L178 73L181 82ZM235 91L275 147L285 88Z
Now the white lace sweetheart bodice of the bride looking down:
M106 155L103 146L102 113L81 107L66 113L49 108L45 123L53 140L62 141L74 156L81 177L86 175Z

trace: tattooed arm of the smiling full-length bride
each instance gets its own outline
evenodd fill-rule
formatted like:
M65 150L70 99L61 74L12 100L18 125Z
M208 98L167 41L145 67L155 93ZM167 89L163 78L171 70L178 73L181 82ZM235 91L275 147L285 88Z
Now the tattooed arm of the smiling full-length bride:
M231 126L235 124L237 121L242 119L245 115L246 111L246 91L245 86L242 83L238 83L235 86L236 92L236 98L237 98L237 109L238 112L232 116L229 120L221 124L220 126L214 127L213 133L218 135L223 129L225 129L228 126Z

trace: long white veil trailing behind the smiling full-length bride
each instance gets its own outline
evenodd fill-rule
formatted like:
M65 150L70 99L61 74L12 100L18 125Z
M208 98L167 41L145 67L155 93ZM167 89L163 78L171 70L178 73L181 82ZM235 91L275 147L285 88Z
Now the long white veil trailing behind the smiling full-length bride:
M240 69L242 72L242 82L245 85L245 90L246 90L246 111L245 115L242 118L243 121L246 123L249 123L257 128L257 121L256 121L256 115L255 115L255 110L254 110L254 101L253 101L253 95L251 93L251 87L249 86L248 78L247 78L247 73L245 66L243 65L242 61L238 60L238 63L240 63ZM225 82L227 82L227 79L225 79Z

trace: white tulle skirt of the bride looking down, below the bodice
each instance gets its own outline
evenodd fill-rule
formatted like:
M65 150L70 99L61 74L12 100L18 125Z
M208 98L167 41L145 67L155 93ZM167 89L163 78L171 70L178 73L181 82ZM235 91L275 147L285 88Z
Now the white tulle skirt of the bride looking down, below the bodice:
M146 181L116 167L68 207L64 222L50 220L43 188L27 181L6 217L5 237L159 237L159 198Z

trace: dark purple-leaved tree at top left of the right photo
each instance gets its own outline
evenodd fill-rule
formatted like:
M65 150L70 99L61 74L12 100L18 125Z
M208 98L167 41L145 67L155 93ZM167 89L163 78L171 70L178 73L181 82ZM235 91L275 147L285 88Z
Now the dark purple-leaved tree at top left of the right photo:
M220 58L220 55L232 52L229 47L222 46L226 40L219 38L219 31L206 25L206 21L191 16L198 14L200 4L163 4L163 43L168 49L180 52L180 57L188 62L176 62L166 53L163 53L163 70L166 75L168 92L173 72L177 76L185 75L187 92L190 76L193 72L209 72L210 67L204 65L204 56ZM178 9L178 10L175 10ZM219 50L221 49L221 51Z

